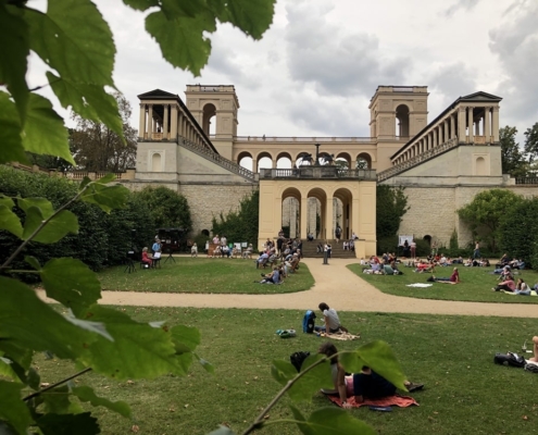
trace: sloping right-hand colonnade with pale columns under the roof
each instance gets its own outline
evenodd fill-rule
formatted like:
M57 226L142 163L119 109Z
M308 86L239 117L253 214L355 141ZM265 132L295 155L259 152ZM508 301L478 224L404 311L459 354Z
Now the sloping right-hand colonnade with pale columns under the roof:
M470 145L498 144L499 105L455 107L401 149L392 159L392 164L404 163L451 139Z

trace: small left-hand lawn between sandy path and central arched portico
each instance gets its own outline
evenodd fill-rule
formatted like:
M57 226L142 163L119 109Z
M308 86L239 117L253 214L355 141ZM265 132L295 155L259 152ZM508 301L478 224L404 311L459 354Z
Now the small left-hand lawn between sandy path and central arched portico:
M271 268L255 269L254 260L202 259L176 257L161 269L138 269L125 273L125 266L98 274L102 289L126 291L207 293L207 294L285 294L303 291L314 285L306 264L289 275L281 285L261 285L260 274Z

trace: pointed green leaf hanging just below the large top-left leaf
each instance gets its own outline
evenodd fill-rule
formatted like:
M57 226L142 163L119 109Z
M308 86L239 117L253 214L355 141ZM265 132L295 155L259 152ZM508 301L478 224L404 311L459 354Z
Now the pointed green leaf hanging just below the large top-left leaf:
M70 82L51 72L47 72L47 78L63 108L71 105L85 120L103 123L123 137L123 121L117 101L102 86Z

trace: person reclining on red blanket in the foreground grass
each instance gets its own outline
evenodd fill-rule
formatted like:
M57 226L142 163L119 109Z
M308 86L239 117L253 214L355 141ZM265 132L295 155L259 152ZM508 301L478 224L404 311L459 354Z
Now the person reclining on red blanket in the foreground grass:
M338 362L338 356L336 355L338 349L333 343L324 343L317 352L330 358L330 373L334 384L334 389L322 389L322 393L339 395L342 408L351 408L351 403L348 402L348 383L353 384L353 396L358 403L363 402L365 399L380 399L395 395L396 386L368 366L363 366L361 373L346 376L346 371ZM424 384L414 384L409 381L404 381L403 385L410 393L424 388Z

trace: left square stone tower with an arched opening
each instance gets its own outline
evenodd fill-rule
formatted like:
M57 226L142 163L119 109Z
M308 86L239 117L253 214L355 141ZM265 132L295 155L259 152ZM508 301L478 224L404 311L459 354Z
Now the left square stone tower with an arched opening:
M233 85L187 85L187 108L218 153L232 160L239 100ZM215 123L212 130L211 125Z

